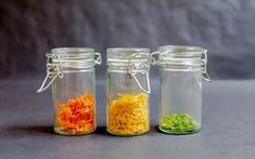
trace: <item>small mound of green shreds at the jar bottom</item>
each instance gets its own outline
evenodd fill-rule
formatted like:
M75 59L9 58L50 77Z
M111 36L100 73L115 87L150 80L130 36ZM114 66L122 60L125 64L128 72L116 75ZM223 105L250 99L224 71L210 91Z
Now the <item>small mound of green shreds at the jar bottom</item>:
M171 114L162 118L160 129L174 134L192 133L200 130L200 123L188 114Z

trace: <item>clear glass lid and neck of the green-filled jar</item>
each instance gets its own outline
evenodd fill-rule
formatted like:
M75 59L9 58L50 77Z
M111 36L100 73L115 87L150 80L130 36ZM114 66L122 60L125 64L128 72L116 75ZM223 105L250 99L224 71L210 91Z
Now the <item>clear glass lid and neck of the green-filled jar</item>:
M158 48L157 64L163 67L201 67L207 63L206 49L189 45L163 45ZM205 59L205 61L204 61Z

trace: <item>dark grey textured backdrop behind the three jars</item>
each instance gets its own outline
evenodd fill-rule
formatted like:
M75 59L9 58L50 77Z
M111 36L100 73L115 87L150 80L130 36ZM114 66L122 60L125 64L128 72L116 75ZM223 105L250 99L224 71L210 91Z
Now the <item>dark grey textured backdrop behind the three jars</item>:
M43 76L55 47L95 48L105 61L109 47L190 44L208 49L213 79L252 79L254 29L255 0L1 0L0 77Z

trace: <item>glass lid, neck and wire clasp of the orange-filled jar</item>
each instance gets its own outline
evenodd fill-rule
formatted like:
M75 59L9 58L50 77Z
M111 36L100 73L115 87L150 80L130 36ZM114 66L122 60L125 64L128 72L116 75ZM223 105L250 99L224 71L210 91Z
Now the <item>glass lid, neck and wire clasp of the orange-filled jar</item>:
M63 78L64 74L93 71L93 66L102 62L101 54L91 48L55 48L46 56L47 75L38 93L49 88L58 77Z

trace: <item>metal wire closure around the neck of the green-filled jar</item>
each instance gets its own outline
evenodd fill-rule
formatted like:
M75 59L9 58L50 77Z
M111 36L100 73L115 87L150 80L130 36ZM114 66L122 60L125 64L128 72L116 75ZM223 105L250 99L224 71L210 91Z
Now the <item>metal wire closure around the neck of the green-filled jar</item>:
M156 59L155 57L154 57L154 55L158 55L158 58ZM209 78L209 75L208 75L208 72L207 72L207 50L205 50L205 51L203 51L203 55L202 55L202 59L201 59L201 62L200 63L173 63L173 62L164 62L164 59L163 59L163 55L164 54L167 54L167 52L163 52L163 53L161 53L161 52L158 52L158 51L156 51L156 52L153 52L152 54L151 54L151 57L150 57L150 63L151 63L151 65L158 65L158 66L175 66L175 65L177 65L177 66L201 66L202 67L202 78L203 78L203 80L205 80L205 81L207 81L207 82L212 82L212 80L211 80L211 78Z

